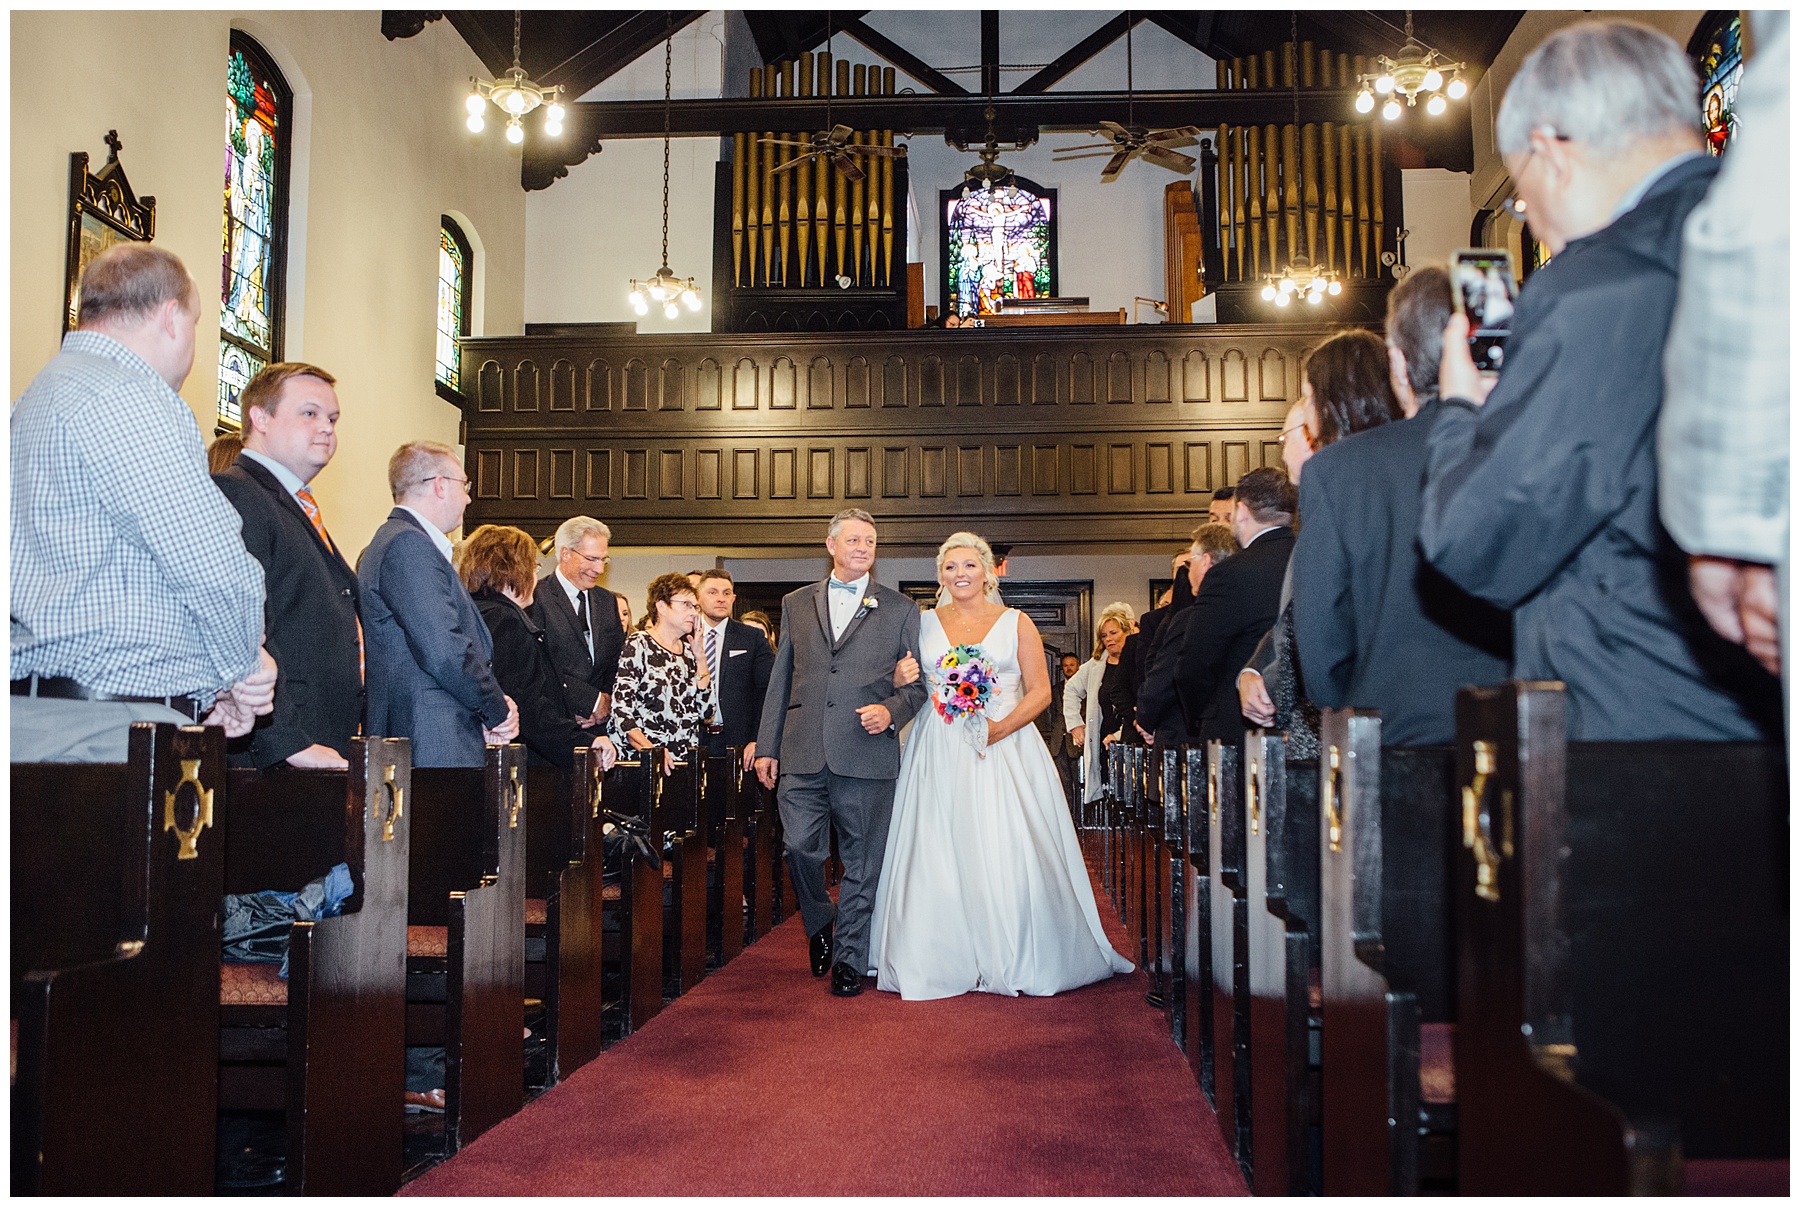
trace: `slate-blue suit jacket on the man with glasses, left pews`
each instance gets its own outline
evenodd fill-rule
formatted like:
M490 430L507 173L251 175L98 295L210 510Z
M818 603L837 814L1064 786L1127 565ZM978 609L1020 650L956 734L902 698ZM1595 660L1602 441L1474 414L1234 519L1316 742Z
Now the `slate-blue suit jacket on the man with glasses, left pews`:
M412 766L481 766L482 727L506 720L493 637L463 579L396 507L362 552L369 734L410 738Z

